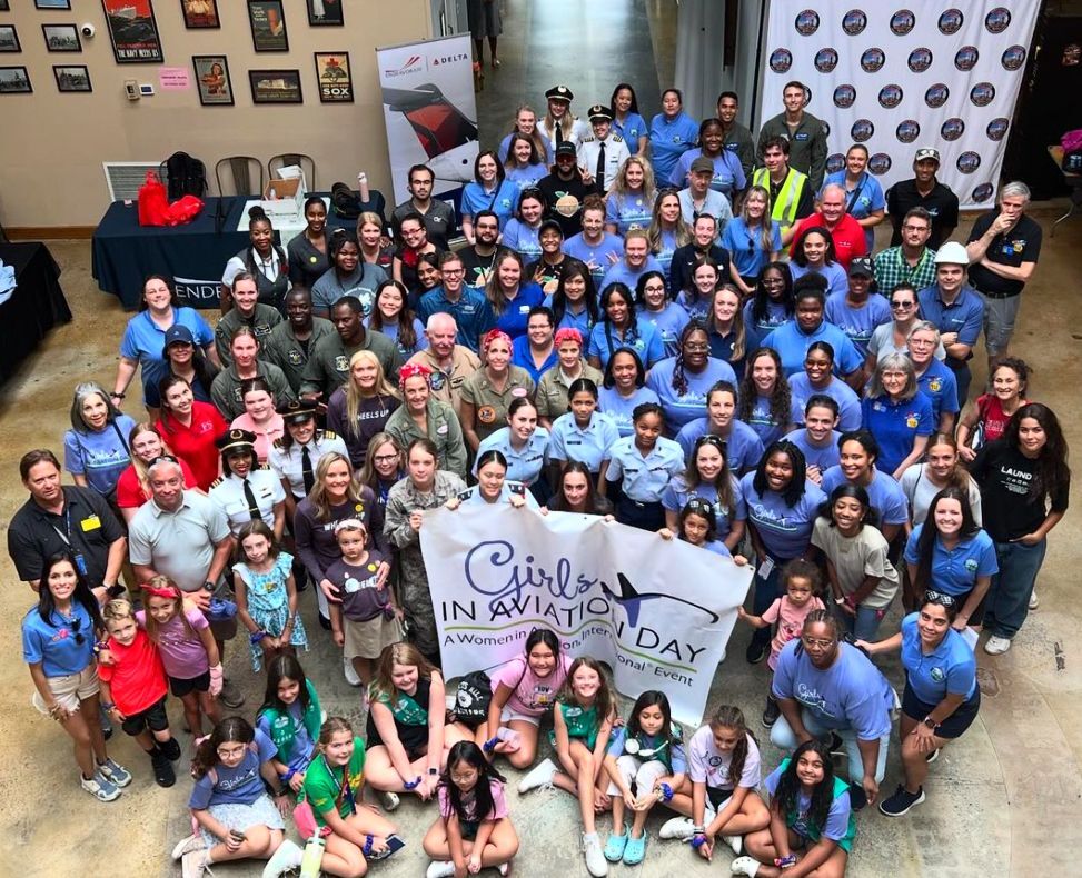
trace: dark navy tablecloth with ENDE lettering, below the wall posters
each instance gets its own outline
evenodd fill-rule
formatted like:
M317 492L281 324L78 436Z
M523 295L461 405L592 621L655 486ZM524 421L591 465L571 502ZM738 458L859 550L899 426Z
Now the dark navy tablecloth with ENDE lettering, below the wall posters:
M327 196L327 192L314 194ZM226 262L248 246L240 225L248 197L209 197L206 207L185 226L140 226L136 202L113 201L93 233L91 271L98 287L120 298L128 310L139 306L147 275L166 275L177 281L177 295L192 308L217 308L218 285ZM221 210L224 220L215 214ZM272 220L271 220L272 221ZM327 228L356 228L356 220L327 217ZM278 232L275 241L280 243Z

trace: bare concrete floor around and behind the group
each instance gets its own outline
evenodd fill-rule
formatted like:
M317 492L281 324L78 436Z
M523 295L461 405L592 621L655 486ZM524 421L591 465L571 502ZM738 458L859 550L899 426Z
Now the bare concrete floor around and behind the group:
M607 73L592 66L587 69L573 52L557 53L553 66L543 67L517 60L533 57L522 42L532 32L525 26L526 8L545 9L549 19L563 21L567 34L579 24L550 13L566 2L549 0L544 4L509 3L500 54L504 67L488 76L488 89L479 103L492 101L499 109L503 130L514 104L524 94L536 103L548 86L567 82L585 100L577 100L579 111L595 98L607 98L618 70L631 69L626 56L611 61ZM649 2L646 7L653 7ZM631 13L609 9L631 9ZM609 0L605 14L623 16L623 28L629 28L634 16L644 9L642 0L617 3ZM617 18L613 19L614 22ZM536 22L535 22L536 24ZM645 30L645 29L641 29ZM605 39L612 29L584 33L593 41ZM656 29L655 29L656 32ZM517 40L516 40L517 34ZM565 39L573 39L565 34ZM548 41L550 52L560 41ZM648 51L645 46L642 51ZM600 53L596 57L611 57ZM645 59L645 60L644 60ZM648 57L639 56L644 63ZM616 64L619 63L617 68ZM639 68L642 69L642 68ZM577 77L577 78L576 78ZM636 77L632 77L636 79ZM508 87L497 87L495 81ZM656 78L638 76L641 96ZM526 88L528 83L528 88ZM585 89L585 90L584 90ZM656 92L655 98L656 100ZM653 111L653 102L648 110ZM510 107L512 109L506 109ZM483 130L485 110L483 110ZM487 136L487 132L486 132ZM1062 209L1046 207L1033 216L1045 230L1044 252L1034 280L1025 292L1022 322L1016 338L1016 352L1035 369L1031 396L1052 406L1068 431L1069 440L1082 447L1082 406L1078 388L1082 386L1082 300L1076 295L1082 221L1072 220L1060 227L1058 237L1048 240L1052 220ZM956 237L966 232L963 223ZM880 246L884 235L880 235ZM62 283L75 320L52 331L21 370L0 388L0 521L7 522L24 501L26 491L18 480L18 459L29 448L60 449L68 427L71 390L79 380L93 378L107 387L116 371L117 347L126 315L112 297L99 292L90 277L88 241L50 242L50 249L63 269ZM208 315L208 317L212 316ZM974 387L983 380L983 357L974 360L977 372ZM129 409L131 407L129 406ZM131 413L138 415L136 410ZM1080 501L1074 490L1075 509ZM1070 864L1072 851L1082 844L1082 649L1076 632L1082 622L1082 608L1075 599L1075 576L1082 565L1082 528L1076 511L1054 531L1048 562L1039 591L1041 609L1031 613L1016 646L1005 656L979 655L981 685L984 694L981 716L969 732L952 745L932 767L927 801L911 815L887 820L877 812L858 817L858 835L848 874L865 876L1020 876L1076 874ZM9 623L0 628L0 651L9 660L0 667L0 691L4 709L0 710L0 740L6 742L0 762L0 875L57 876L85 875L170 875L179 869L169 861L168 850L186 834L185 805L189 784L181 779L170 790L156 787L146 758L122 735L113 740L111 752L129 768L136 779L120 800L100 805L79 791L68 739L54 724L40 717L30 705L32 690L21 661L18 620L32 603L29 590L17 581L7 556L0 559L0 571L9 587L0 592L0 611ZM357 717L357 696L341 679L340 664L329 639L314 625L310 600L304 608L314 649L305 665L316 680L327 710ZM884 627L896 625L896 613ZM718 669L711 705L722 701L741 706L757 727L766 687L762 666L748 667L743 649L748 637L738 627L729 645L729 658ZM234 649L229 657L231 676L244 684L251 716L260 699L260 686L250 672L244 655ZM901 685L896 664L884 669ZM626 709L627 704L625 701ZM176 702L170 714L179 729L181 715ZM763 731L757 727L756 734ZM765 765L776 765L780 755L765 735L758 735ZM187 747L188 736L180 735ZM517 772L508 772L517 781ZM892 756L884 789L893 790L899 778L896 754ZM522 852L516 860L520 876L585 876L578 852L578 820L574 800L566 794L536 791L519 797L509 791L512 816L522 838ZM424 874L427 860L420 840L434 811L416 800L407 800L395 819L407 841L407 849L380 866L374 874L399 878ZM719 852L713 867L707 866L677 842L658 841L661 818L652 818L648 828L653 840L645 862L637 874L671 876L677 872L706 875L725 872L728 856ZM599 821L607 831L608 818ZM629 872L614 867L613 875ZM255 876L254 866L216 867L219 876ZM488 872L494 875L495 872Z

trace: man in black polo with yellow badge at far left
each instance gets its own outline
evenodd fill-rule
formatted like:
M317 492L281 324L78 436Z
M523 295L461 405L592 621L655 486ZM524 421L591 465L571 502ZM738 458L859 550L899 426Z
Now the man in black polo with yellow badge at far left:
M46 559L68 552L102 597L117 585L128 551L109 503L90 488L61 485L60 462L46 449L23 455L19 476L30 491L8 526L8 555L19 578L37 591Z

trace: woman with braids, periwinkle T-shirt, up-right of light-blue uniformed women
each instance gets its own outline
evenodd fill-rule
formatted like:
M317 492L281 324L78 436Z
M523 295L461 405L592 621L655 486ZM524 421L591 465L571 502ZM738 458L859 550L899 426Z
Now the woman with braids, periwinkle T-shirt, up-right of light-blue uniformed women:
M669 436L706 413L706 395L715 383L736 383L733 367L711 357L709 350L706 326L701 320L692 320L681 332L679 352L662 360L646 377L646 387L662 402Z

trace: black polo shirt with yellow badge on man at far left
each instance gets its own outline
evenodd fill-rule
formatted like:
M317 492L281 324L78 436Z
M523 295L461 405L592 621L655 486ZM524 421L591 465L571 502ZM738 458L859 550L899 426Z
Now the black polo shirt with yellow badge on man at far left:
M19 578L41 578L46 558L70 551L87 562L87 579L100 586L109 562L109 547L123 536L123 528L97 491L64 486L64 511L47 512L31 497L8 526L8 555Z

